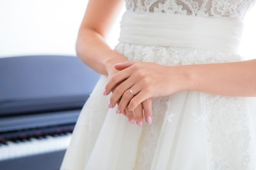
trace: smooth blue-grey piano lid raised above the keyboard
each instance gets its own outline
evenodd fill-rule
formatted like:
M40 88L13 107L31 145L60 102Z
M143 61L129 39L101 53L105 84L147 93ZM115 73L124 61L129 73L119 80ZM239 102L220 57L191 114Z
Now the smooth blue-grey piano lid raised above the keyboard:
M74 56L0 59L0 118L82 108L100 74Z

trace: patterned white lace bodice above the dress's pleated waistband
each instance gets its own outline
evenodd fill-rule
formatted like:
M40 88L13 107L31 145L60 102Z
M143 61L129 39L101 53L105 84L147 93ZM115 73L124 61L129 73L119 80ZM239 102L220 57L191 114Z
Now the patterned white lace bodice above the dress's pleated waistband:
M243 17L256 0L125 0L136 13L172 13L201 17Z

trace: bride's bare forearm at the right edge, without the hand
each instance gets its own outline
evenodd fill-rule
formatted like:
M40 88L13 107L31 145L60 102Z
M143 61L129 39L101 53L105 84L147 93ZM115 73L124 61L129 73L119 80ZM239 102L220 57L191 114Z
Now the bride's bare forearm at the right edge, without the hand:
M223 96L256 96L256 60L182 66L188 89Z

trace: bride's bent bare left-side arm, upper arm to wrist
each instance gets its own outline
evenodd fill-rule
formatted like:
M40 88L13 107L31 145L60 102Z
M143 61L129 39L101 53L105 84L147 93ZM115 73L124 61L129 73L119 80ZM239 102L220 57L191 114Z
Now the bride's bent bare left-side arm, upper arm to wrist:
M106 43L123 3L124 0L90 0L79 28L77 57L100 74L108 75L113 64L127 60Z

